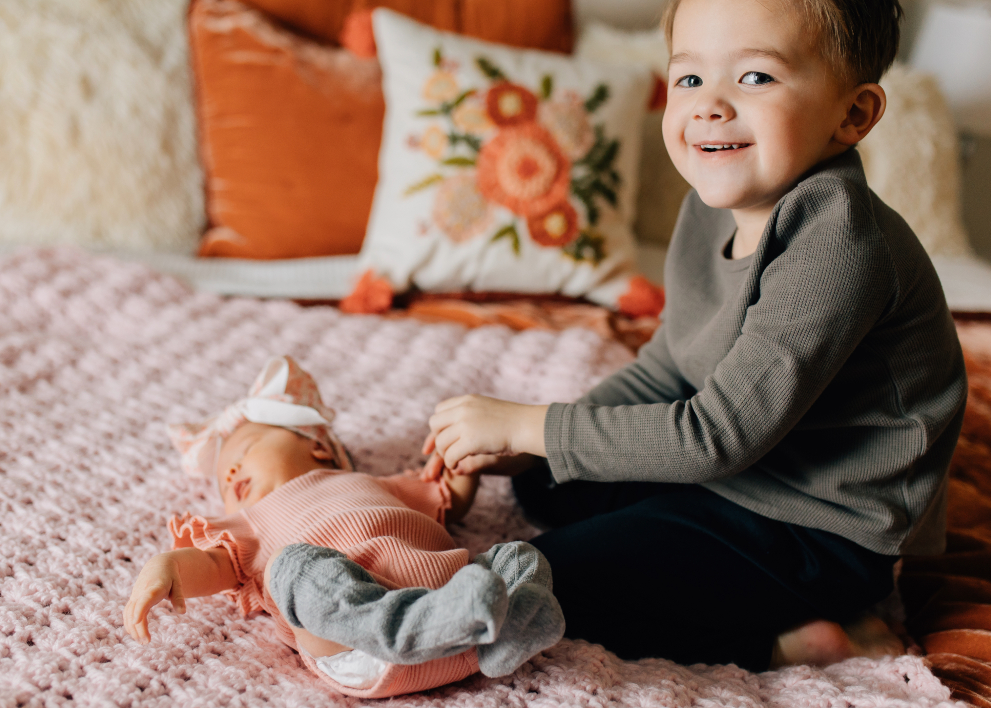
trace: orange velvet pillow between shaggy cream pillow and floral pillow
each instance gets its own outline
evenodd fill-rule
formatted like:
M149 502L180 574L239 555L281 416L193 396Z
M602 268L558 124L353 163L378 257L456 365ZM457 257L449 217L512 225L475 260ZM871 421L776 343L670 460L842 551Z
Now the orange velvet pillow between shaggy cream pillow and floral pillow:
M200 255L358 253L385 114L378 62L235 0L196 0L189 28L214 227Z

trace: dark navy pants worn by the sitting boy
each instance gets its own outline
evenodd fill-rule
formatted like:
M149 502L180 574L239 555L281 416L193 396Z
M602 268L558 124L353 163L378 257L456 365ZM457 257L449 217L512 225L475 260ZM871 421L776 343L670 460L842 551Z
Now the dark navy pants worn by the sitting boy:
M775 638L856 619L893 589L897 556L767 519L698 485L513 478L550 561L565 636L623 658L768 666Z

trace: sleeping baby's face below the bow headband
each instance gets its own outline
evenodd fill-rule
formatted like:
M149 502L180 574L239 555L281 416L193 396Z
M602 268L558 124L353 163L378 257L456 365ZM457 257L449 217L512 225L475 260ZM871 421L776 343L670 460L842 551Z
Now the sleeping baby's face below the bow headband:
M327 467L332 457L315 440L275 425L248 422L220 448L217 485L224 510L233 514L310 470Z

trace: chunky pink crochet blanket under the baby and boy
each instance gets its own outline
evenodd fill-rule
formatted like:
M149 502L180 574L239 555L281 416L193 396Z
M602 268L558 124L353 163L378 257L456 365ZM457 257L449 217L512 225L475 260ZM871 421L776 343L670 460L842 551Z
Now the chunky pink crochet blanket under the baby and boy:
M74 250L0 259L0 705L353 705L223 597L167 603L142 647L121 611L174 512L216 510L165 421L240 397L286 353L316 377L359 469L419 460L434 404L464 392L569 401L630 359L585 329L465 329L283 301L190 293ZM456 538L472 551L536 531L487 479ZM678 582L679 578L672 578ZM732 582L731 578L726 579ZM607 602L608 598L604 598ZM677 612L678 608L672 608ZM564 641L501 679L479 674L390 705L948 706L924 659L851 659L751 674L618 660Z

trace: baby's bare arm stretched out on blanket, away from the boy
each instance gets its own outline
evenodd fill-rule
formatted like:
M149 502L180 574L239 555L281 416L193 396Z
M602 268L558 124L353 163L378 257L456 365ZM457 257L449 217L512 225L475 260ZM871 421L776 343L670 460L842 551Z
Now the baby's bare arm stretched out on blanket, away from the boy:
M224 548L179 548L159 553L145 563L124 608L124 629L141 644L148 644L148 612L168 598L172 608L185 614L185 598L233 590L240 583L231 556Z

